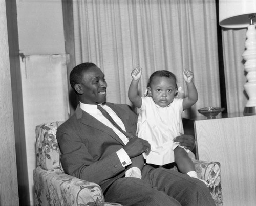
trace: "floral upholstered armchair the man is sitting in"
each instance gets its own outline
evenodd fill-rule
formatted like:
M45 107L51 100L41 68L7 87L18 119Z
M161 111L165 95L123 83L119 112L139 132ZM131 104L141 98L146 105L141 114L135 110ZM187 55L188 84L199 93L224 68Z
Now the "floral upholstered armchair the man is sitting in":
M119 205L106 203L99 185L64 173L56 131L63 122L36 126L37 167L33 171L35 205ZM220 163L195 161L196 172L209 183L216 205L222 205Z

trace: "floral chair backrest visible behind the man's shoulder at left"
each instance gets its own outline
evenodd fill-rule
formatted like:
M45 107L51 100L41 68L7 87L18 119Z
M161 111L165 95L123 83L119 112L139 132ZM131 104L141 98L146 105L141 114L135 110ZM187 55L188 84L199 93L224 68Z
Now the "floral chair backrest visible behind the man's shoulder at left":
M61 122L50 122L36 126L36 165L45 170L59 168L60 150L56 139L56 131Z

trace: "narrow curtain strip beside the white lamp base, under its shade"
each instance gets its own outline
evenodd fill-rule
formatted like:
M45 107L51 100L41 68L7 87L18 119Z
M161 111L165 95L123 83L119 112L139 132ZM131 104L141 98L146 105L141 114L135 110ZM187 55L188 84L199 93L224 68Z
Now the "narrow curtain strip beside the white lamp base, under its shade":
M245 29L222 29L224 71L228 113L241 113L247 102L244 90L246 76L244 60Z

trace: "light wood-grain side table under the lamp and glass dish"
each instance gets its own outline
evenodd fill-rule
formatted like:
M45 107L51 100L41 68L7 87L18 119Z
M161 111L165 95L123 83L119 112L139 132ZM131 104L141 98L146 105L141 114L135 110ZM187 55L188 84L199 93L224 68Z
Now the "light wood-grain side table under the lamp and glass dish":
M256 115L183 118L196 138L196 157L221 163L223 205L256 205Z

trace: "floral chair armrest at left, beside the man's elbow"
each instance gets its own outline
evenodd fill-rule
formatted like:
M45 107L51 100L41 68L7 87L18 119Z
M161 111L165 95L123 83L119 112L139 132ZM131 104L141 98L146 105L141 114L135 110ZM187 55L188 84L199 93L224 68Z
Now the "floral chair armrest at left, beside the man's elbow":
M63 173L60 169L33 171L35 205L104 205L99 185ZM112 205L108 203L107 205ZM113 204L120 205L120 204Z

